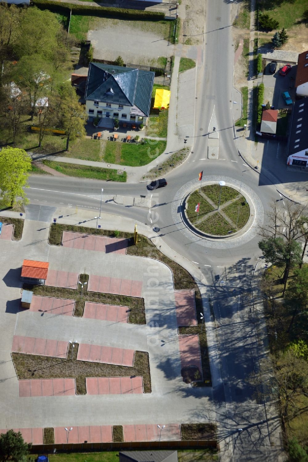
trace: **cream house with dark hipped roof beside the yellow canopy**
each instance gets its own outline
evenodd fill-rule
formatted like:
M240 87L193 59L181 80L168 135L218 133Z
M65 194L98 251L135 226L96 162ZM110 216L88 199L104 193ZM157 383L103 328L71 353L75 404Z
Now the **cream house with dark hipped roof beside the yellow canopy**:
M85 86L87 114L146 125L153 83L154 72L91 62Z

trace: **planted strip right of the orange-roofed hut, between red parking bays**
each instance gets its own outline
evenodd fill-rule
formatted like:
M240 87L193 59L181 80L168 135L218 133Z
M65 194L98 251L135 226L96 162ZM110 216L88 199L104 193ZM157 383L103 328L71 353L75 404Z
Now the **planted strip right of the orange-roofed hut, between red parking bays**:
M84 284L89 279L88 274L80 274L79 281ZM84 286L81 296L81 285L77 290L52 286L32 286L24 284L24 288L30 288L35 295L44 297L66 298L75 300L74 316L82 317L85 309L85 302L103 303L110 305L128 306L128 322L132 324L145 324L145 302L143 298L130 297L112 293L88 292Z

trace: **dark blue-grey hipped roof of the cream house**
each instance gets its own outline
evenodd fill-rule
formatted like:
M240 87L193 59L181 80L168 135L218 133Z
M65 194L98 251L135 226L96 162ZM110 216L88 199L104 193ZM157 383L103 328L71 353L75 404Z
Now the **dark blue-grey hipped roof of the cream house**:
M148 116L153 82L154 72L151 71L91 62L85 99L135 106L140 111L138 115Z

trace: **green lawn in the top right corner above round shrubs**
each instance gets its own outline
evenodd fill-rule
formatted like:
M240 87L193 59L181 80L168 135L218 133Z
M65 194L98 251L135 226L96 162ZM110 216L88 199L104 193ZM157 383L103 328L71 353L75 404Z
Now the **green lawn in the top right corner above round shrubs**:
M267 12L271 18L279 22L279 30L283 27L291 29L303 21L305 11L308 10L307 0L259 1L260 12Z

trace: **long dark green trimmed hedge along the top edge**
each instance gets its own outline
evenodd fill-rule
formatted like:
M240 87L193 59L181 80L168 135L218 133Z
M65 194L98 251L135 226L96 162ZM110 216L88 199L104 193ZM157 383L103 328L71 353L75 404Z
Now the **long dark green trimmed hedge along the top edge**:
M143 10L129 10L126 8L112 8L108 6L91 6L91 5L76 5L74 3L60 3L58 1L49 0L32 0L32 5L44 10L64 11L66 14L72 10L72 14L82 14L88 16L103 16L111 18L124 18L124 19L141 19L149 21L161 21L165 15L162 12L143 11Z

